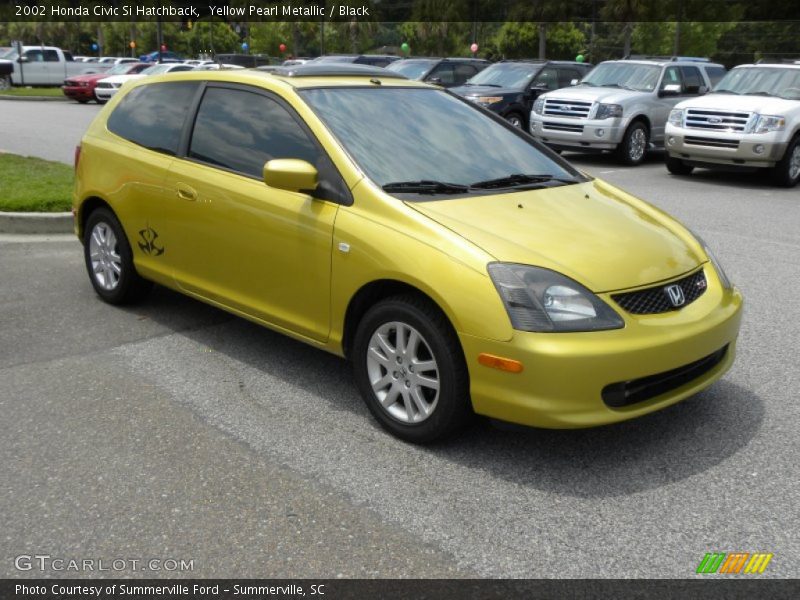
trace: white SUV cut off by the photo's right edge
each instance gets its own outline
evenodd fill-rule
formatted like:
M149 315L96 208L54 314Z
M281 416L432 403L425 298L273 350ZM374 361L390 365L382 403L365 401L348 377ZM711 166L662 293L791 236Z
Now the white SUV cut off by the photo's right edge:
M800 181L800 64L741 65L714 91L678 104L667 124L667 169L771 170L773 181Z

